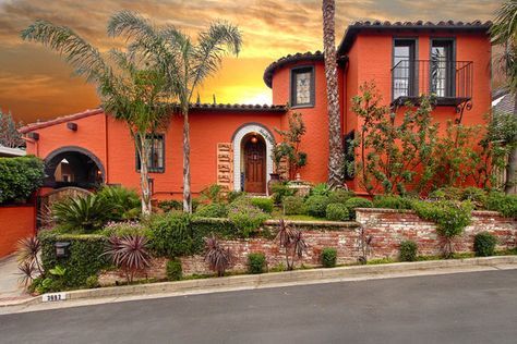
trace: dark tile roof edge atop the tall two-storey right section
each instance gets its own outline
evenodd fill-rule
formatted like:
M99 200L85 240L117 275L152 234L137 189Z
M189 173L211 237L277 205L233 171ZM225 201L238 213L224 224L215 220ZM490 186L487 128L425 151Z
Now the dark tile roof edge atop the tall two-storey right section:
M492 26L492 22L481 22L481 21L473 21L469 23L464 22L455 22L455 21L447 21L447 22L381 22L381 21L366 21L366 22L356 22L352 25L349 25L345 36L342 37L341 44L338 47L338 53L344 54L347 53L350 47L353 44L353 40L357 34L360 30L364 29L374 29L374 30L400 30L400 29L411 29L411 30L462 30L462 32L478 32L478 33L486 33L490 27Z

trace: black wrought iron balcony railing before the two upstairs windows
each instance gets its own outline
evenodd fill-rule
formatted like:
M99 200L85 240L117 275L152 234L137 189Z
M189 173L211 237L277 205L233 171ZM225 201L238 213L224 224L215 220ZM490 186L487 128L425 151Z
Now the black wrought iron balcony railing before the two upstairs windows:
M392 69L392 105L417 101L422 95L437 106L458 107L472 98L472 61L401 60Z

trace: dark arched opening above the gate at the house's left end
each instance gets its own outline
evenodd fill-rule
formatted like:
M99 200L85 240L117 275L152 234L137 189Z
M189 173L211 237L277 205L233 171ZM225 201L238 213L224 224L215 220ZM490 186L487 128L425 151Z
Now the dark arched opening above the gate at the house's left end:
M104 184L105 169L100 160L81 147L62 147L45 159L45 186L96 188Z

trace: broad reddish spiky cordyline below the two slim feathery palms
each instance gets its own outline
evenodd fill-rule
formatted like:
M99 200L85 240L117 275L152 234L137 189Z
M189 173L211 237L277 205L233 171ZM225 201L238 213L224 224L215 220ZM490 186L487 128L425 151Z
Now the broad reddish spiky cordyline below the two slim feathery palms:
M113 265L124 271L128 284L133 282L136 272L145 271L151 266L145 236L111 236L108 242L105 255L108 255Z

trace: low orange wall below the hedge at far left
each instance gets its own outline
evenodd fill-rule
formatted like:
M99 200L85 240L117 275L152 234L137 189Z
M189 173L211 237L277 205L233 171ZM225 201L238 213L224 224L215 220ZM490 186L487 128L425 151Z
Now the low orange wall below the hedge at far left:
M14 253L19 239L34 234L35 211L33 205L0 206L0 258Z

